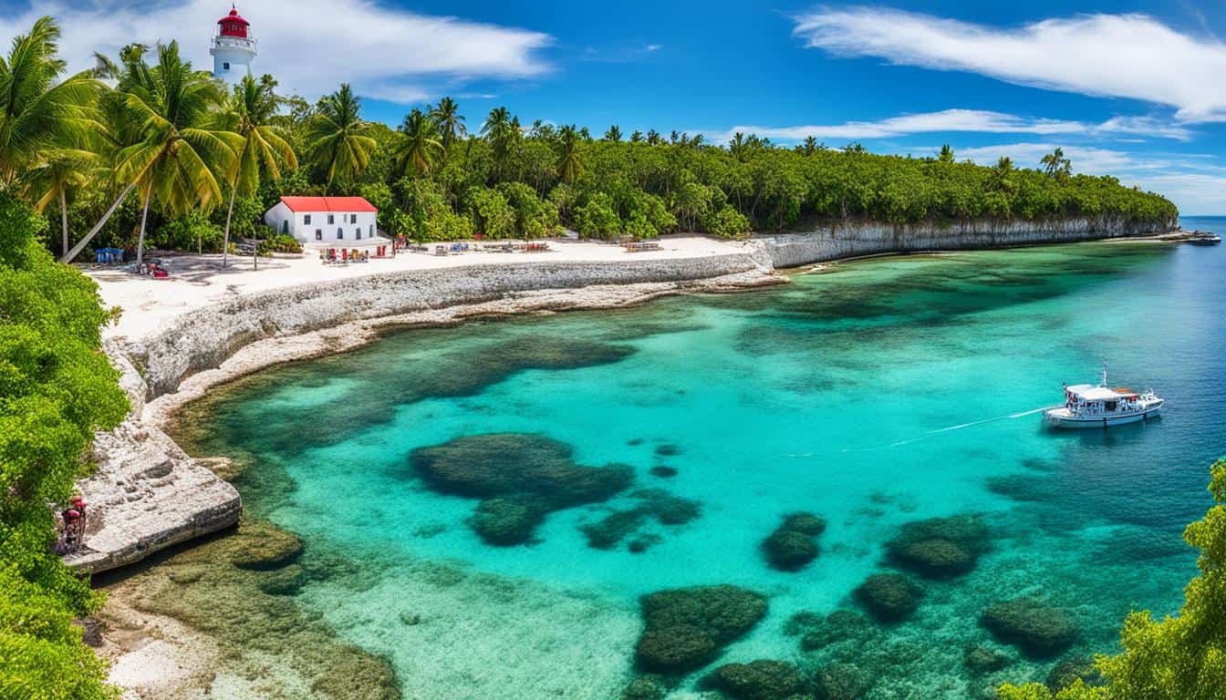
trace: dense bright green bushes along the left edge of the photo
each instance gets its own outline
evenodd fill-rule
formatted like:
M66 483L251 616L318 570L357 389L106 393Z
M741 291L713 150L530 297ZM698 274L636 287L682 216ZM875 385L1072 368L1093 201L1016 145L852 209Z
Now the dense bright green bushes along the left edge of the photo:
M114 698L71 622L102 603L51 552L97 429L128 400L101 352L93 281L38 243L44 221L0 191L0 698Z

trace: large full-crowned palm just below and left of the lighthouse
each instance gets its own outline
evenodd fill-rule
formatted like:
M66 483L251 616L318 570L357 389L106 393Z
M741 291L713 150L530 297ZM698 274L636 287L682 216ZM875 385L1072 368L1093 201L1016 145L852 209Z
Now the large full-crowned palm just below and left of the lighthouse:
M158 64L123 86L130 119L142 140L118 153L116 175L141 190L141 229L136 264L145 259L150 202L181 216L221 199L213 170L230 172L243 139L216 127L224 96L206 71L179 58L179 44L158 45Z

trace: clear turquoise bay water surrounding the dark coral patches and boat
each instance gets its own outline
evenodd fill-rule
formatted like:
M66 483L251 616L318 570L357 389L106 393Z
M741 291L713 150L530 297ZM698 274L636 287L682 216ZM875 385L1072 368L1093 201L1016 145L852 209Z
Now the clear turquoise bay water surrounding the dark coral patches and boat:
M191 414L212 430L196 449L249 457L249 510L300 535L305 558L343 563L295 599L387 655L407 698L615 698L634 675L638 596L696 584L770 599L720 662L817 668L834 652L802 651L793 613L853 608L901 523L982 514L993 543L976 570L926 582L912 620L850 657L875 678L867 698L980 696L1054 663L1010 651L999 672L962 668L996 601L1067 608L1074 655L1112 651L1130 609L1178 609L1194 573L1179 533L1226 452L1224 270L1226 246L894 257L750 294L400 331L239 384ZM1167 397L1166 416L1041 429L1034 411L1103 357L1112 384ZM477 500L430 490L408 455L488 433L630 465L638 487L701 516L649 519L641 553L588 547L580 527L636 504L631 488L548 515L528 546L485 544L468 526ZM821 555L775 571L759 543L793 511L829 522ZM700 675L672 696L701 695Z

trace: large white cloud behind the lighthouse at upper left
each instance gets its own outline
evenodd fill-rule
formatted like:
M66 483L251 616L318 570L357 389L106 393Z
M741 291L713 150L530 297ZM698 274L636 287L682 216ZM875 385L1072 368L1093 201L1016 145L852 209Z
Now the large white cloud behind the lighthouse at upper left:
M228 2L185 0L136 6L101 0L85 6L39 2L0 17L0 42L51 15L63 28L60 53L74 70L93 51L114 55L131 42L178 39L184 56L211 69L208 42ZM434 81L525 78L549 70L539 32L406 12L369 0L261 0L239 7L259 42L257 72L286 92L314 98L349 82L359 94L392 102L430 97Z

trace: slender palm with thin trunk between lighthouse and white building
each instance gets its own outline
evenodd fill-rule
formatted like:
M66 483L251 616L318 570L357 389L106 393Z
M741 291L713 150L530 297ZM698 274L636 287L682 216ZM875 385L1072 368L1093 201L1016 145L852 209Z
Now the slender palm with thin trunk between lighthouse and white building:
M281 164L294 170L298 158L286 141L281 126L276 125L281 98L273 92L277 81L264 76L256 82L251 76L244 76L243 82L234 86L230 113L227 115L229 129L243 137L238 158L229 174L230 201L226 210L226 233L222 238L222 267L229 256L229 227L234 216L234 197L239 191L243 196L253 196L260 186L260 175L270 180L281 179Z

